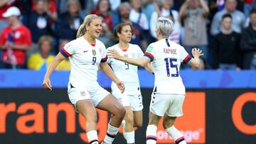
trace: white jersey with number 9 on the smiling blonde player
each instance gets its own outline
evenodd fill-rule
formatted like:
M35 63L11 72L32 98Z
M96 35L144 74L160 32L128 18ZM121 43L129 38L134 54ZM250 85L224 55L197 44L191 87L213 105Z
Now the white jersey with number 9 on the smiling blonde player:
M80 37L67 43L60 52L70 58L69 81L73 87L82 87L90 91L100 86L97 83L98 65L107 61L106 48L100 40L96 39L93 46L84 37Z

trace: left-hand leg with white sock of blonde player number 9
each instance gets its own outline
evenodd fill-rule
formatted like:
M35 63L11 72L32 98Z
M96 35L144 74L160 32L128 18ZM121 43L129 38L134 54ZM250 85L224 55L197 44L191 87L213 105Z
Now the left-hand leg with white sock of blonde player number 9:
M78 111L86 119L86 135L90 143L98 144L96 124L97 124L97 112L95 106L92 104L91 99L80 100L76 104Z

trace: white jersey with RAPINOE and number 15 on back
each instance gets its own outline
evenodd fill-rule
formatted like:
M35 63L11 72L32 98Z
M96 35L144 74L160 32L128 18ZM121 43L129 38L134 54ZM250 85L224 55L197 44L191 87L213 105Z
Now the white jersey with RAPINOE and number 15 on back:
M187 63L191 56L171 40L162 39L151 43L144 56L149 57L155 74L154 91L160 94L185 94L179 74L181 62Z

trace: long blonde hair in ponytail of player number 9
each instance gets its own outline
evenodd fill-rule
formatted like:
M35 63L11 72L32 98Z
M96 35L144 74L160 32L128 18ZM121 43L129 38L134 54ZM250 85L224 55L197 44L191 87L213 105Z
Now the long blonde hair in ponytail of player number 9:
M85 35L85 33L86 33L85 26L90 26L90 23L92 23L92 20L94 20L96 18L100 18L100 17L97 16L96 14L89 14L89 15L85 16L84 21L82 22L82 24L80 25L80 27L78 29L78 33L76 35L77 38L81 37L82 35Z

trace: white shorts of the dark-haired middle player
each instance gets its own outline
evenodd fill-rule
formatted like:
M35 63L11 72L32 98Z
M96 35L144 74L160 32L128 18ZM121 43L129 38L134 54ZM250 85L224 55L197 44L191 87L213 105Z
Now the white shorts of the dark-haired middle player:
M142 94L127 95L121 93L112 92L113 96L122 103L123 106L130 106L132 111L142 111Z

